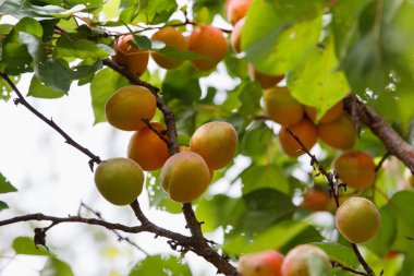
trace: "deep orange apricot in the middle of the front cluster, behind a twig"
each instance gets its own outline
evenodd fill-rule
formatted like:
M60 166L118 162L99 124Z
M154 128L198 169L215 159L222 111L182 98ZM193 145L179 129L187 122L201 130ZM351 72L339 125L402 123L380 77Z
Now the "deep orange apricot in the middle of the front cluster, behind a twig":
M160 133L167 131L166 127L158 122L151 122L151 125ZM166 142L147 125L131 136L126 155L147 171L161 168L170 157Z

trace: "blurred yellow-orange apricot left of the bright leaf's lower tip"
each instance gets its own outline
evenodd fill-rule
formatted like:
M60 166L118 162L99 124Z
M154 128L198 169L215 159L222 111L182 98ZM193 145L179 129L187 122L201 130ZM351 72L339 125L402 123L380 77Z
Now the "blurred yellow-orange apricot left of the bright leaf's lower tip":
M303 106L291 96L288 87L265 91L264 109L271 120L282 125L295 124L304 116Z

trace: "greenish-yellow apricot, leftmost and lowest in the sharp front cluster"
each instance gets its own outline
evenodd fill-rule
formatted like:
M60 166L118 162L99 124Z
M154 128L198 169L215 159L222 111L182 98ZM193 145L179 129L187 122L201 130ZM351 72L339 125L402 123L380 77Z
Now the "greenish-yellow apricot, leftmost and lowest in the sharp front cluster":
M144 172L127 158L112 158L99 164L95 183L100 194L114 205L127 205L143 191Z

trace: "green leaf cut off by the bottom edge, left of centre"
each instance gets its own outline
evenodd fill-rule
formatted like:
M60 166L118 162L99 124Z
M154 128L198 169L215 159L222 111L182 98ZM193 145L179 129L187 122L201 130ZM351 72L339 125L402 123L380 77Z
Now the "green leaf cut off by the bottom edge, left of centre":
M129 276L191 276L188 265L176 256L153 255L139 261Z

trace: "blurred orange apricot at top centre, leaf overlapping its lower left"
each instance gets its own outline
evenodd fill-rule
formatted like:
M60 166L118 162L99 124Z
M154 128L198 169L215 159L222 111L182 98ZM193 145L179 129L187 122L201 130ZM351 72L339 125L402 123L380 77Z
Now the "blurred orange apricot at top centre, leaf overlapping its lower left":
M200 71L209 71L224 59L227 40L221 29L203 25L190 35L188 49L204 56L203 59L193 60L193 65Z

